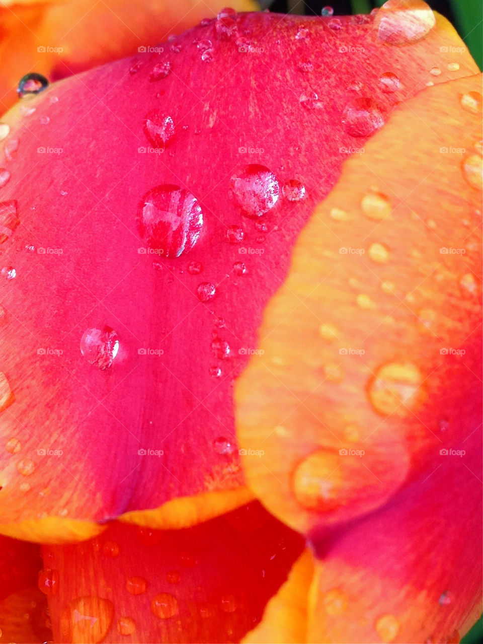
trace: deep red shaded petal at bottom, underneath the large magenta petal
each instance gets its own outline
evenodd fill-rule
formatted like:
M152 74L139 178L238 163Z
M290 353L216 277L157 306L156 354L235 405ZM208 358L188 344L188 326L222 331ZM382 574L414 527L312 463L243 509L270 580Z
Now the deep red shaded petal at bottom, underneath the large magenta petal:
M78 545L44 547L55 641L239 641L302 551L259 504L200 526L113 524Z

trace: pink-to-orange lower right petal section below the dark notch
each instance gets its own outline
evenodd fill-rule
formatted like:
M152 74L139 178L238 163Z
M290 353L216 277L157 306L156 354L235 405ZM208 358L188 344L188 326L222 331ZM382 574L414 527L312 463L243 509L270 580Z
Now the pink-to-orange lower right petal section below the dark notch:
M387 507L321 538L308 642L459 641L481 613L481 439Z

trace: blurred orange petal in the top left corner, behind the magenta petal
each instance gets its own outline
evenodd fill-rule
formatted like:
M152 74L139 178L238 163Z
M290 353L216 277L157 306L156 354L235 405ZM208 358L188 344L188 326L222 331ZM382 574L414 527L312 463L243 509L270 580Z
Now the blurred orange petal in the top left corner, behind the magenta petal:
M154 46L224 6L223 0L3 2L0 105L5 111L14 104L17 83L30 71L51 80L79 73ZM230 6L238 11L258 8L254 0L234 0Z

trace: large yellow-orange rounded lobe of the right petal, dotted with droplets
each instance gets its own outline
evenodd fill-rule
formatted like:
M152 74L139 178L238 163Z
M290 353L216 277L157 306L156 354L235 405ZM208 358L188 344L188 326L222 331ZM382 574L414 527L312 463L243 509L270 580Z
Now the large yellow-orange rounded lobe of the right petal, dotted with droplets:
M300 531L376 509L478 425L480 91L459 79L394 111L266 308L238 437L251 488Z

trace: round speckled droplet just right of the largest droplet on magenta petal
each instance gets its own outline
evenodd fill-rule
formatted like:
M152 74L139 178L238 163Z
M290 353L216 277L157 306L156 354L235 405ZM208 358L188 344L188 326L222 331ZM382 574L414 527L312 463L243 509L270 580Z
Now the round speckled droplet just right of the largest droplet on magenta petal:
M268 167L250 164L232 176L231 189L235 202L247 217L260 217L277 203L277 178Z

